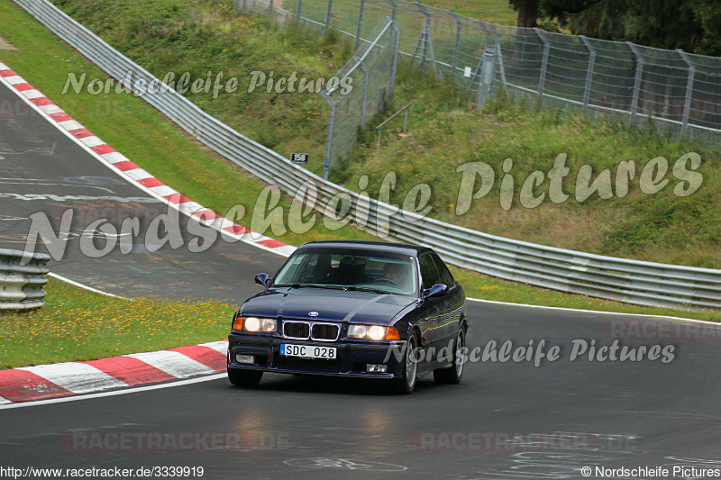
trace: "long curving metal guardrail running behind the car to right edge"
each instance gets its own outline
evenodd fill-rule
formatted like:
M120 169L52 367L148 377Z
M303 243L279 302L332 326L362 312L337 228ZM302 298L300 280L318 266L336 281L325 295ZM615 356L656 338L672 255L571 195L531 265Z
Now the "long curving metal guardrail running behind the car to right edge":
M45 0L16 0L52 32L78 49L107 74L123 78L128 71L148 85L160 82L132 60ZM336 186L291 164L200 110L187 98L169 90L141 97L240 167L293 195L306 185L315 186L323 199L344 195L351 199L360 220L379 224L398 240L433 247L459 267L573 294L587 294L627 303L681 309L721 309L721 270L680 267L624 258L602 257L567 249L554 249L525 241L504 239L472 231L414 213ZM323 211L320 202L316 209Z

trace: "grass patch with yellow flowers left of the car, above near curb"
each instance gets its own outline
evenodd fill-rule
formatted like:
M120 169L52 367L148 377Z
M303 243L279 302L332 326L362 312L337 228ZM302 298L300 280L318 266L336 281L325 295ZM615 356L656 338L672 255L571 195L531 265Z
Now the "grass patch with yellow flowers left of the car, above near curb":
M0 317L0 368L171 349L223 339L235 306L217 301L126 300L50 279L47 304Z

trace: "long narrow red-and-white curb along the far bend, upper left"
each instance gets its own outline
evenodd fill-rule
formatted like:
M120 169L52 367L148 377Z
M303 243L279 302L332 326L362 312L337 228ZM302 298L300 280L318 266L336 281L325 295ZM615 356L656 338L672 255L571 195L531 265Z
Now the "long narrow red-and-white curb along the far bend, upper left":
M153 177L150 173L132 163L129 158L105 143L91 131L88 131L80 122L73 119L58 105L53 104L47 96L42 95L40 90L30 85L3 62L0 62L0 82L10 86L11 90L14 89L26 104L55 124L60 131L75 140L90 155L117 171L130 183L138 186L149 195L176 208L178 212L184 213L197 222L214 228L216 231L220 231L235 240L251 243L260 249L270 250L285 257L296 249L292 245L287 245L282 241L271 239L238 225L163 184L158 178Z

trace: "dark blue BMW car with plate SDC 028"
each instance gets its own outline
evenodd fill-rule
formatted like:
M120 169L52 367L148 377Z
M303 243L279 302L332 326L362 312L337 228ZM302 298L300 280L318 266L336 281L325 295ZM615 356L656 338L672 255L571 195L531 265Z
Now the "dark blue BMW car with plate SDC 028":
M228 378L265 372L457 384L468 329L463 287L432 250L378 241L312 241L242 303L228 336Z

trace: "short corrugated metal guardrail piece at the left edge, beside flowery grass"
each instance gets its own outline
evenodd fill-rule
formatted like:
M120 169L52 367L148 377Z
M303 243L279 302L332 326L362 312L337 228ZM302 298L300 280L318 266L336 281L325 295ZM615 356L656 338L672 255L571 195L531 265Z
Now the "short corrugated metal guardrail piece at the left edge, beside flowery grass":
M29 261L20 265L23 258ZM30 310L45 304L42 286L48 283L48 260L50 255L44 253L0 249L0 311Z

